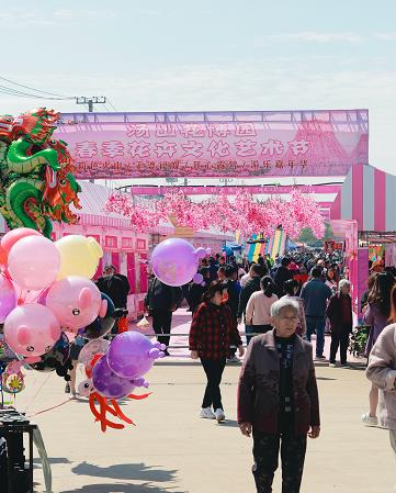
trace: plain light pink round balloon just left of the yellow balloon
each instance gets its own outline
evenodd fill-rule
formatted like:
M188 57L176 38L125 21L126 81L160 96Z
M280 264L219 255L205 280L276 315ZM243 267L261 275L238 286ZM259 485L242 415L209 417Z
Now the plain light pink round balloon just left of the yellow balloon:
M54 243L44 236L26 236L9 253L9 272L22 289L43 290L58 273L60 256Z

